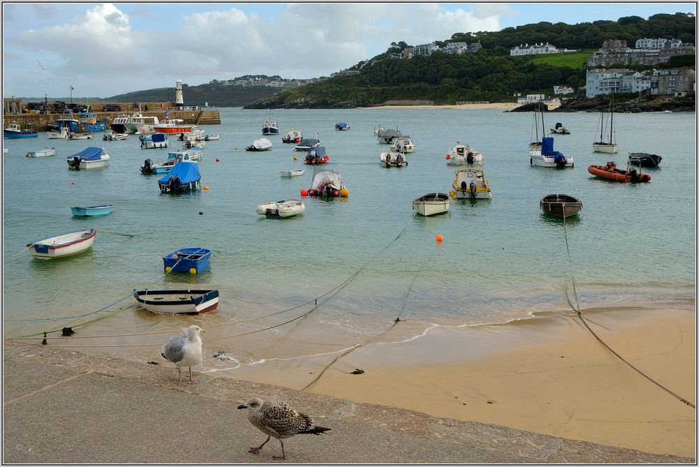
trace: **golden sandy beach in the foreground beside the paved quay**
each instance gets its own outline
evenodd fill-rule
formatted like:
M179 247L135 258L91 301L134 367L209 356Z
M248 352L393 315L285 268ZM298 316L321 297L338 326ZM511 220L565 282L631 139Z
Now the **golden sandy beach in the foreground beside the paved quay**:
M628 362L696 403L693 310L593 309L585 316ZM237 377L301 389L294 373L322 367L308 360L294 368L256 365ZM368 344L338 359L308 391L656 454L696 451L696 410L612 355L572 311Z

